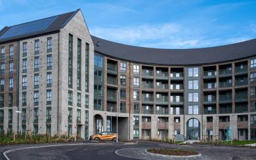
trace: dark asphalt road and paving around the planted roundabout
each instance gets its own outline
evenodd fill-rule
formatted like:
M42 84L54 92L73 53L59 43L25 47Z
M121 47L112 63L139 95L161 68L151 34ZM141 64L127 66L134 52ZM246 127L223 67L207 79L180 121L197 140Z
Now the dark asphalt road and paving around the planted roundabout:
M145 150L149 148L180 148L195 150L201 153L200 157L161 157L150 155ZM161 142L139 141L137 143L119 142L76 142L60 144L23 144L17 146L0 146L0 159L100 159L100 160L131 160L131 159L256 159L256 148L242 146L213 146L201 144L166 144Z

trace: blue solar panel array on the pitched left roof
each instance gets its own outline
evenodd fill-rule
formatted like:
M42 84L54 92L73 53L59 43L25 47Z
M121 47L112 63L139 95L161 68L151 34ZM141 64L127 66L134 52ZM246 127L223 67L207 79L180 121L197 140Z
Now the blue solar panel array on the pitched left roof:
M14 25L10 29L8 29L8 31L6 31L3 35L1 35L0 39L7 39L11 37L24 35L27 33L43 31L47 29L51 24L53 24L56 18L58 18L58 16L53 16L50 18L45 18L43 20L28 22L25 24Z

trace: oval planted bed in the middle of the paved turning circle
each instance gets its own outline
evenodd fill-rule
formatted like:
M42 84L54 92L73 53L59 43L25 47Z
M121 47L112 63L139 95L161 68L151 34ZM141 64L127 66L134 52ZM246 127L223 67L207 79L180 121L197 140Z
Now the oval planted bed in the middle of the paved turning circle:
M181 149L175 149L175 150L169 150L167 148L160 148L160 149L148 149L146 150L147 152L150 153L156 153L156 154L161 154L161 155L176 155L176 156L186 156L186 155L198 155L198 152L195 151L188 151L188 150L181 150Z

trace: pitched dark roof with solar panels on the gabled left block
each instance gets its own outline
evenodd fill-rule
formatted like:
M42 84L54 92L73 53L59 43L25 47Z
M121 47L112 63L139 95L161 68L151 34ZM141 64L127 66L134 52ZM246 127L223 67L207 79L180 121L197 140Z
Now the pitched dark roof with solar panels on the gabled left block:
M4 27L0 31L0 43L59 31L71 20L78 10L79 9L73 12L43 18L41 20L26 22L24 24Z

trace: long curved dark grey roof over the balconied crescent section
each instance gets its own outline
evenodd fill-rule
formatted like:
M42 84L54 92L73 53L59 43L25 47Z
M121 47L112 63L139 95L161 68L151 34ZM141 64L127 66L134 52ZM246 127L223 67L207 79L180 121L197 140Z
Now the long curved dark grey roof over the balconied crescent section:
M160 65L200 65L256 56L256 39L192 49L157 49L129 46L91 36L95 51L110 57Z

